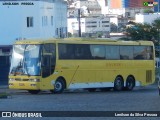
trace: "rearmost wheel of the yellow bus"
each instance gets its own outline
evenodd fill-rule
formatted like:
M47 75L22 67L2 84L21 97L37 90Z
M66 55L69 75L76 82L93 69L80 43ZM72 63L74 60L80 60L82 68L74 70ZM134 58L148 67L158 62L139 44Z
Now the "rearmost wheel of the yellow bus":
M135 80L133 77L129 76L126 81L126 90L131 91L133 90L134 86L135 86Z

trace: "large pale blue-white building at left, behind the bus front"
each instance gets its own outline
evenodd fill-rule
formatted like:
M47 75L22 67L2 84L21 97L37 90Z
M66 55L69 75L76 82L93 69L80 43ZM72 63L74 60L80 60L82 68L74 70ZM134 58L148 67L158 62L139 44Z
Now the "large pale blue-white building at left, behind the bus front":
M0 0L1 45L22 38L67 36L64 0Z

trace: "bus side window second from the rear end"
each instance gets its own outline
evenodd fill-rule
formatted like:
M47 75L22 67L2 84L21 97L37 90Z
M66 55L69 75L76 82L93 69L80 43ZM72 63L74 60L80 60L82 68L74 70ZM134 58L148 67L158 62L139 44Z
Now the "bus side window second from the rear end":
M120 46L120 59L132 60L133 59L133 46Z

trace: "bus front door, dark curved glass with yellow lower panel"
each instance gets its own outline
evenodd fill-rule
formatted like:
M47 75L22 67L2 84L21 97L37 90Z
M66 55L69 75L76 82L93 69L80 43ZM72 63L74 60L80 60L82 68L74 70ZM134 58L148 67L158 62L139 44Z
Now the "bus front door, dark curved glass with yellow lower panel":
M56 49L55 44L44 44L42 47L41 56L41 89L47 89L51 86L51 75L54 73L56 64Z

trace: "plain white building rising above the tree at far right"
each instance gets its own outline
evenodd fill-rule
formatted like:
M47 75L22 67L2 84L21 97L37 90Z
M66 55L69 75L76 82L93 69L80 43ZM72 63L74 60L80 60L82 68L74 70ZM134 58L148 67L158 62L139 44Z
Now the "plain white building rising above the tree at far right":
M157 18L160 18L160 13L136 14L135 22L151 24Z

